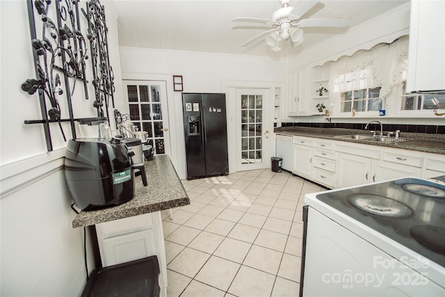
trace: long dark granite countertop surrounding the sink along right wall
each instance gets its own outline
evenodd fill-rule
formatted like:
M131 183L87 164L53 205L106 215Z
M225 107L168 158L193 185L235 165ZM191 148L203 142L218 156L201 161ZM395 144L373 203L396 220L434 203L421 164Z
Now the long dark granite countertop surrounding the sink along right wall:
M407 133L401 134L401 137L407 138L407 141L397 143L380 143L375 141L359 141L355 139L335 138L341 135L370 135L369 130L341 129L341 128L312 128L312 127L280 127L275 128L274 132L289 136L307 136L313 138L332 139L334 141L346 141L350 143L362 143L366 145L380 145L384 147L394 147L403 150L415 150L418 152L430 152L433 154L445 154L445 135L443 134L420 134ZM384 135L386 135L384 131Z

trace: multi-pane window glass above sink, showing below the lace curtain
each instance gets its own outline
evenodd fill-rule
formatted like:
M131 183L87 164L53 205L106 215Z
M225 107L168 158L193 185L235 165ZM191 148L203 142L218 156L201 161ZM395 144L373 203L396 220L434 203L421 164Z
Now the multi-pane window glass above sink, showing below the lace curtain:
M380 98L380 87L350 90L340 95L340 112L350 113L380 111L383 109L383 99Z

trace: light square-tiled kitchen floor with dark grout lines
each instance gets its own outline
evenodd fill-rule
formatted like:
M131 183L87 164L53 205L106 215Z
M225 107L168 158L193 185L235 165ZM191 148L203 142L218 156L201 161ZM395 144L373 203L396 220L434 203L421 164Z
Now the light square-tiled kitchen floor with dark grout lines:
M302 207L323 188L270 169L182 181L163 211L168 297L298 296Z

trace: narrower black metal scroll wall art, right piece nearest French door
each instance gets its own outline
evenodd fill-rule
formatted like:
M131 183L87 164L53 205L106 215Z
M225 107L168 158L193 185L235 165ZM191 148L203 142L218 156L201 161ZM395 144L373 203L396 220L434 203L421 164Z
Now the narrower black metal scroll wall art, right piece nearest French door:
M105 104L106 117L109 118L109 99L114 108L115 91L113 68L108 56L108 27L105 21L104 6L99 0L88 2L87 11L82 9L83 15L88 19L88 40L90 40L92 84L95 87L94 106L97 116L104 117L103 106Z

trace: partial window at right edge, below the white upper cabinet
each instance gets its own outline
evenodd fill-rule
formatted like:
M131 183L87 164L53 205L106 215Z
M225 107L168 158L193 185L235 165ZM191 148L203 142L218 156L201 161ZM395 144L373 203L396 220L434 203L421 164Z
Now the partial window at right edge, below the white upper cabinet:
M403 83L401 111L432 111L445 109L445 94L406 94L406 83Z

